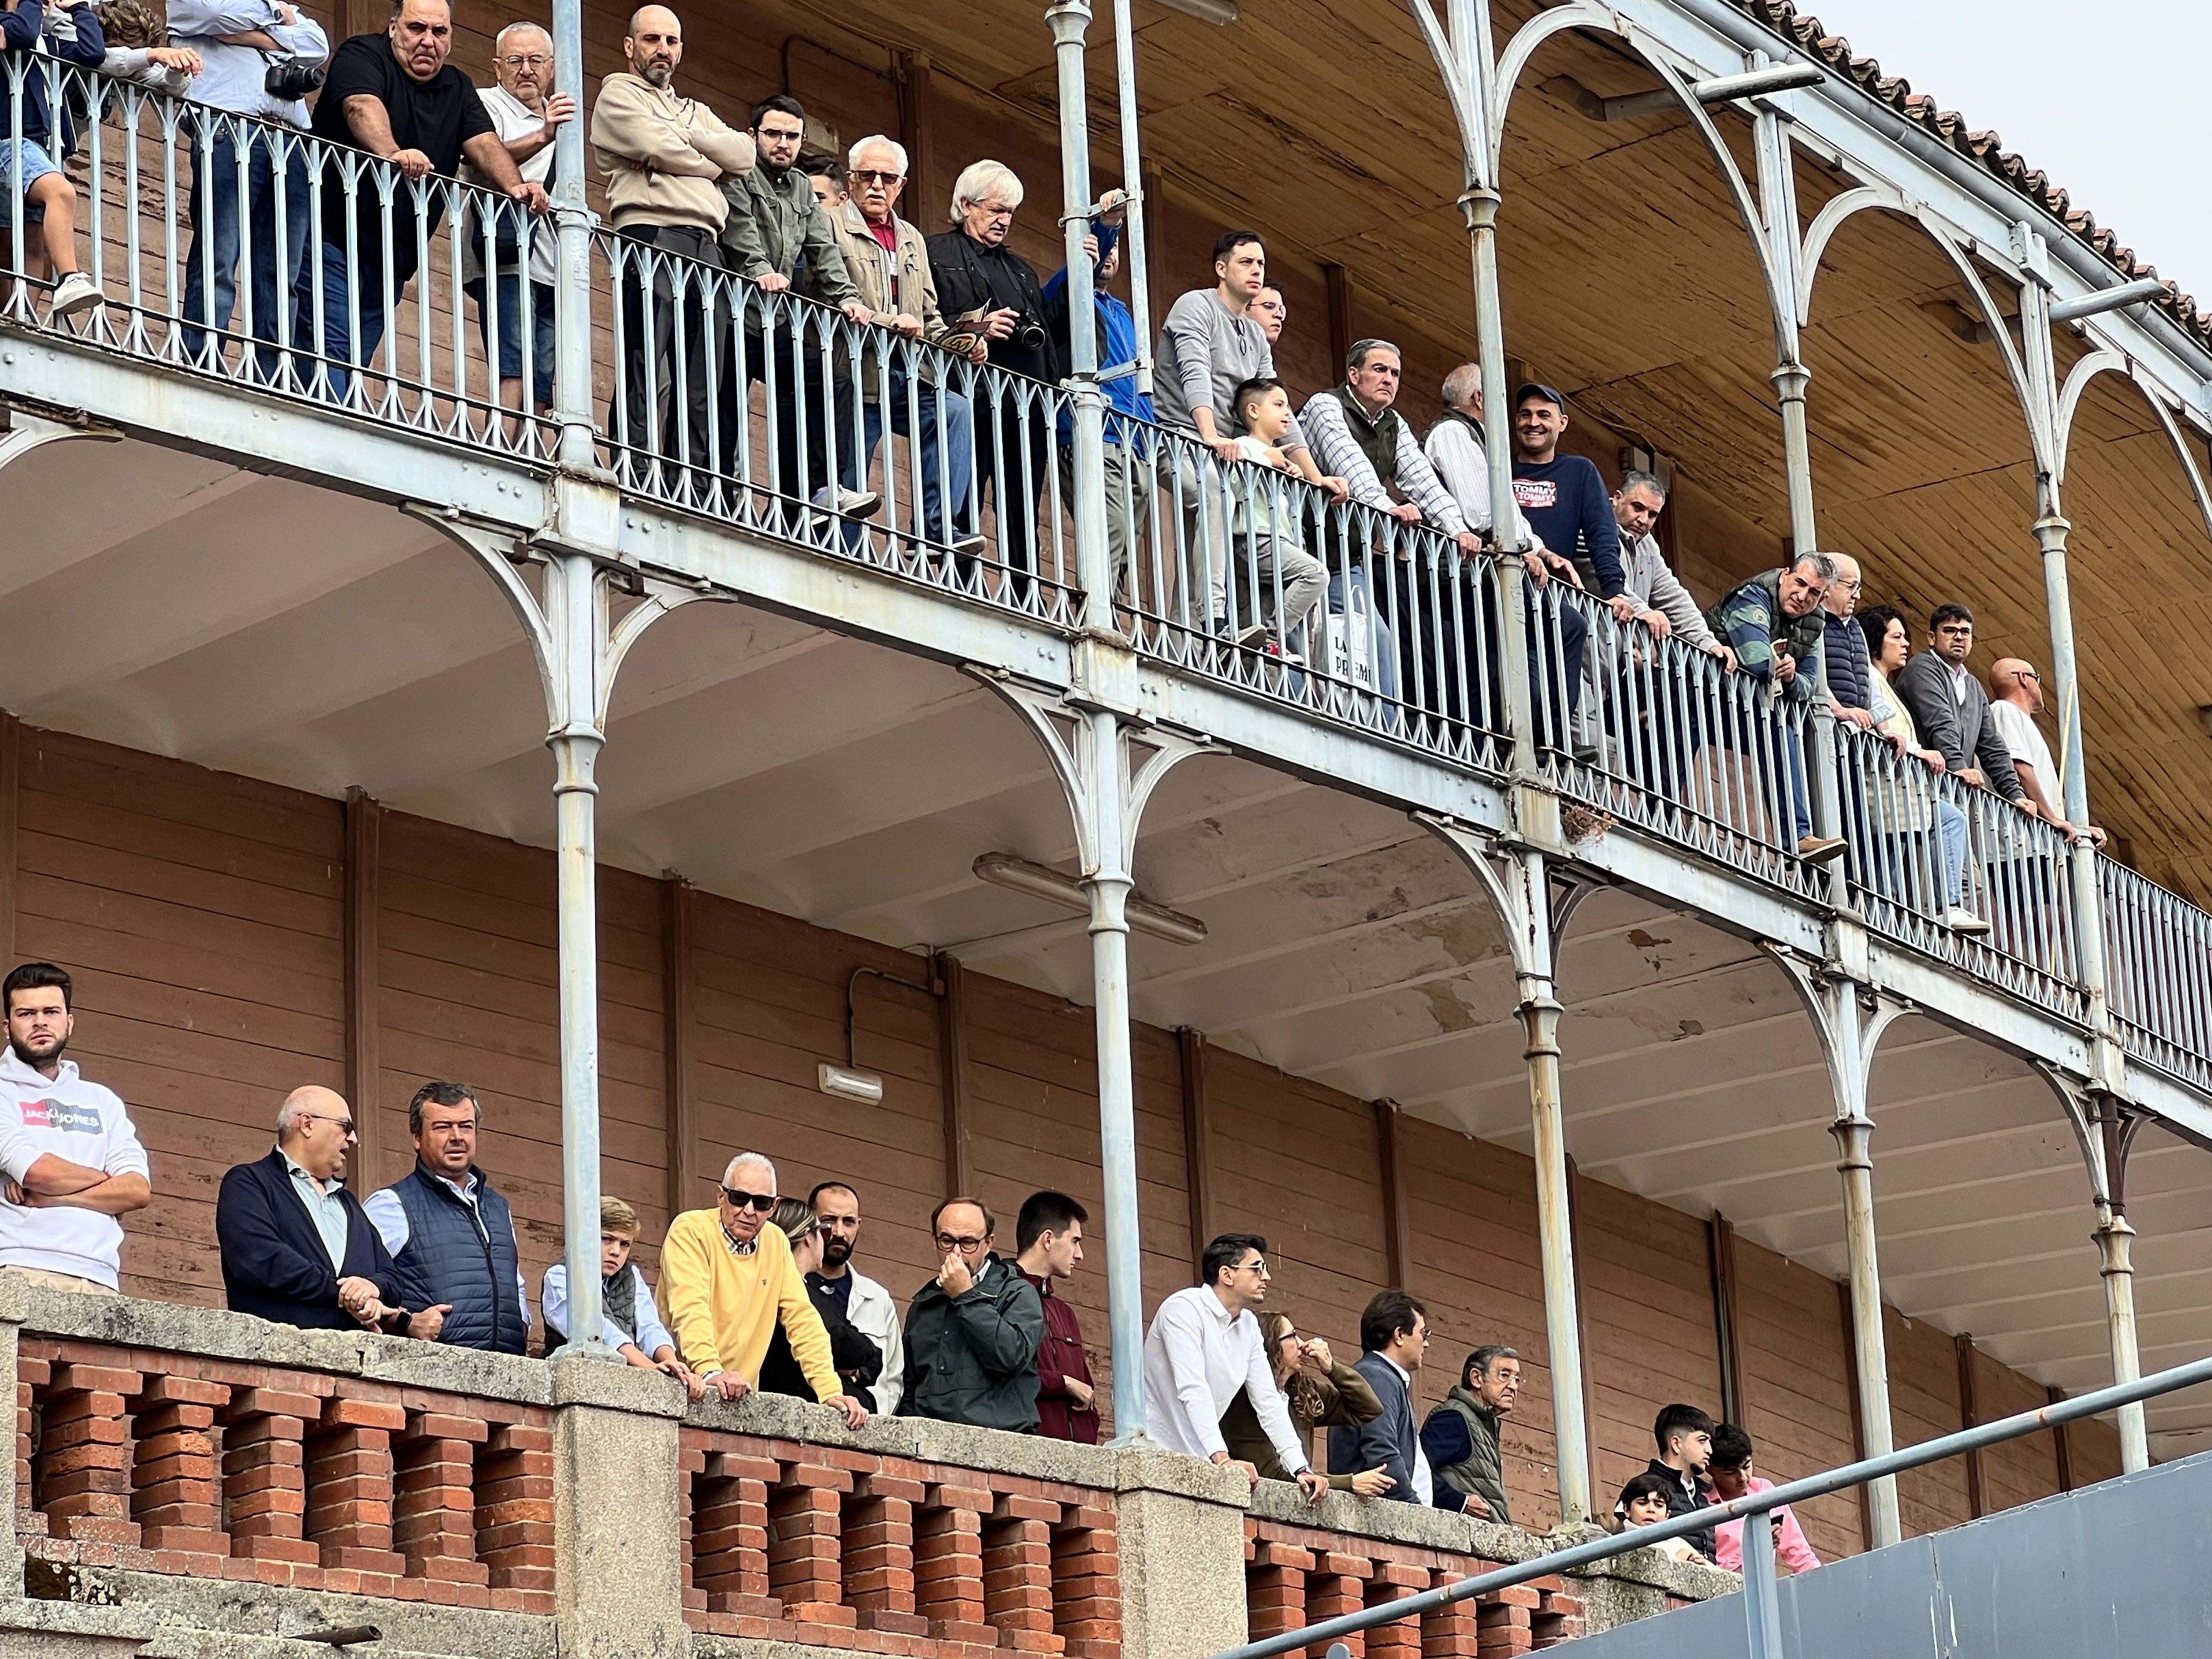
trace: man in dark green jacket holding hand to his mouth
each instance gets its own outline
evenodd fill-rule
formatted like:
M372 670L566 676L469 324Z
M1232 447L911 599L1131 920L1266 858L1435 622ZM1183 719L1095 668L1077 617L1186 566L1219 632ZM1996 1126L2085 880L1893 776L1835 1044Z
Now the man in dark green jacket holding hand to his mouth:
M1035 1431L1044 1303L993 1254L995 1230L975 1199L947 1199L929 1217L945 1263L907 1307L900 1416Z

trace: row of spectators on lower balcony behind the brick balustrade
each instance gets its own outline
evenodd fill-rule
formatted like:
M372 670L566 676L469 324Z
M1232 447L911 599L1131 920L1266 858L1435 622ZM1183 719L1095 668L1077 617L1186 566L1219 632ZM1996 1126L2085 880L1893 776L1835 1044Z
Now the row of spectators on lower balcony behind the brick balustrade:
M113 1296L117 1217L153 1201L146 1150L124 1102L69 1057L73 984L51 962L0 980L7 1053L0 1086L0 1267L77 1294ZM223 1294L239 1314L296 1329L365 1329L493 1354L531 1349L531 1294L507 1199L478 1164L482 1104L467 1084L427 1082L407 1104L414 1170L367 1199L347 1186L361 1126L332 1088L307 1084L276 1108L270 1152L230 1168L215 1203ZM659 1285L633 1261L637 1210L599 1201L599 1336L633 1367L692 1400L785 1394L858 1429L872 1416L1099 1442L1099 1400L1082 1323L1064 1285L1084 1261L1086 1208L1031 1192L1000 1254L998 1219L971 1197L929 1217L938 1270L905 1301L854 1261L860 1192L818 1181L783 1197L776 1166L734 1155L712 1208L668 1223ZM1425 1418L1420 1371L1431 1332L1405 1290L1360 1314L1360 1354L1340 1360L1294 1316L1267 1307L1267 1241L1225 1232L1199 1283L1168 1296L1144 1340L1146 1433L1170 1451L1261 1480L1310 1504L1329 1491L1447 1509L1511 1524L1502 1429L1520 1398L1520 1354L1475 1347ZM544 1270L544 1352L571 1340L568 1265ZM1312 1462L1327 1429L1325 1469ZM1659 1455L1619 1502L1624 1524L1686 1515L1767 1482L1750 1473L1741 1429L1670 1405ZM1734 1522L1741 1531L1741 1522ZM1796 1520L1778 1548L1816 1566ZM1694 1533L1681 1553L1736 1566L1741 1542Z

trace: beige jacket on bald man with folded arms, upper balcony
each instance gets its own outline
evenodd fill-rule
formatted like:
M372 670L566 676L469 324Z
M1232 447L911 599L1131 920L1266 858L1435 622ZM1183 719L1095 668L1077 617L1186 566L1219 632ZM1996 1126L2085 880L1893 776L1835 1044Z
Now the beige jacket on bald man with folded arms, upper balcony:
M695 226L721 234L723 177L752 173L752 135L723 126L706 104L617 71L591 106L591 146L606 177L615 230Z

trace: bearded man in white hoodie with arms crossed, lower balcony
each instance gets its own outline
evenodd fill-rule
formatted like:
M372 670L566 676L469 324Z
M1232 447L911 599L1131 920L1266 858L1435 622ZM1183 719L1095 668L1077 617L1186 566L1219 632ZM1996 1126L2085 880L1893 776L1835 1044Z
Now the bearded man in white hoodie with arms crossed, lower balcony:
M75 1031L69 975L24 962L0 980L0 1267L55 1290L115 1292L124 1230L153 1203L146 1148L113 1088L62 1060Z

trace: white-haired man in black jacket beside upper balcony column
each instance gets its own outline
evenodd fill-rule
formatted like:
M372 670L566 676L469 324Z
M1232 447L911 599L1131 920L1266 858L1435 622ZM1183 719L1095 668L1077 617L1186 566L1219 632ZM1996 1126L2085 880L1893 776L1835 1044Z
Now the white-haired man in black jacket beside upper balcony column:
M1060 352L1046 325L1044 290L1026 259L1006 246L1022 181L1002 161L973 161L953 181L951 230L929 239L938 303L953 327L980 334L993 369L1060 383ZM991 484L998 546L1013 597L1029 597L1037 568L1037 502L1051 471L1051 407L1006 383L975 387L975 495ZM995 431L993 431L995 427Z

